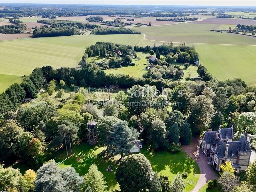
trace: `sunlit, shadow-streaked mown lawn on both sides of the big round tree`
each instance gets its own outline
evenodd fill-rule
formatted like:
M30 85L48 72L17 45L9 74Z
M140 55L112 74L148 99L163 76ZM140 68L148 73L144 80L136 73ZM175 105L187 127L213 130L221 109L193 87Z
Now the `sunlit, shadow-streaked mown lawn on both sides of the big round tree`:
M72 166L76 169L79 175L84 175L87 173L88 168L92 164L96 164L98 169L103 173L106 178L105 181L108 185L108 190L118 189L118 184L115 181L115 169L117 160L120 156L115 156L115 158L109 159L103 153L104 148L99 148L98 146L90 146L88 144L80 144L73 147L73 155L66 159L65 151L60 152L60 156L56 157L56 161L59 163L60 167ZM144 148L141 150L152 164L154 171L157 171L159 175L169 176L170 181L178 173L188 172L189 176L186 179L186 192L192 190L199 179L199 167L198 165L189 158L185 152L180 151L179 153L172 154L167 151L161 151L152 153L151 151ZM57 156L57 155L56 155ZM108 166L113 168L113 172L107 172L106 168ZM193 175L195 166L196 174Z

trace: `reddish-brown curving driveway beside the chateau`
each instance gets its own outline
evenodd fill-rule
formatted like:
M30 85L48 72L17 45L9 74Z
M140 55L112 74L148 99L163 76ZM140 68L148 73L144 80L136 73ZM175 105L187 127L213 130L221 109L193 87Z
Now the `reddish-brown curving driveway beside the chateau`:
M207 181L211 179L217 179L217 175L213 168L208 165L207 157L200 150L200 144L198 138L192 138L190 145L182 145L181 149L191 156L198 164L200 168L199 180L191 192L198 192L199 189L204 186Z

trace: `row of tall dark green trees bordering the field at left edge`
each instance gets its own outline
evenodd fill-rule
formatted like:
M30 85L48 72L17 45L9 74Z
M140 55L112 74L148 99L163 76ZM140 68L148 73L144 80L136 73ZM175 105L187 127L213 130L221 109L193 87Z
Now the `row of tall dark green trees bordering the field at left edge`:
M35 98L39 90L43 87L45 78L41 68L36 68L25 77L22 83L11 85L0 95L0 114L7 111L15 111L23 102L24 98Z

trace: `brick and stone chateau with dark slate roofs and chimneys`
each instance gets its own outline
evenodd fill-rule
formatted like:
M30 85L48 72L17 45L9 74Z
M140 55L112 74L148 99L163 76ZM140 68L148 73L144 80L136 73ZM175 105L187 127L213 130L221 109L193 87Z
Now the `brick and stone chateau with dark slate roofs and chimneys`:
M220 171L220 164L225 161L231 161L234 169L239 173L245 171L250 162L252 135L244 135L237 141L234 140L233 126L227 129L212 131L208 129L204 133L202 142L202 151L208 157L208 164Z

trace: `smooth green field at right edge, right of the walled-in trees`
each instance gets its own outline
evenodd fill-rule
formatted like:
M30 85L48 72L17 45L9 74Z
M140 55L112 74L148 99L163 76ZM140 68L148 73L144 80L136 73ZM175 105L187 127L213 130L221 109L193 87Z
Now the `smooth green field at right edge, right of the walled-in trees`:
M256 85L256 46L195 45L201 63L218 80L240 78Z

